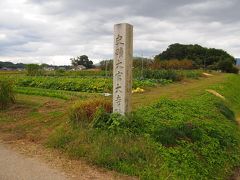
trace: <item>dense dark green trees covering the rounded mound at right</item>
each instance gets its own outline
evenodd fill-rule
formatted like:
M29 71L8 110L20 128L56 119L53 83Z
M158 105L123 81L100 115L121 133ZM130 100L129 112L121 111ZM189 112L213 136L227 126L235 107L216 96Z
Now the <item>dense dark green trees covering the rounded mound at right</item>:
M196 67L208 67L216 65L223 60L228 60L232 64L236 64L236 60L233 56L226 51L214 48L205 48L200 45L183 45L172 44L166 51L163 51L159 55L155 56L156 61L164 60L192 60L193 65Z

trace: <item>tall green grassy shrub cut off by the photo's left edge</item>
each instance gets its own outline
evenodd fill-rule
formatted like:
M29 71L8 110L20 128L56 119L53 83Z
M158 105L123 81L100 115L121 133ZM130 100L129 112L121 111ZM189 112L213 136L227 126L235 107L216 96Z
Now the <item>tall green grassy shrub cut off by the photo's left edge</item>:
M0 80L0 109L5 109L14 102L13 84L7 80Z

